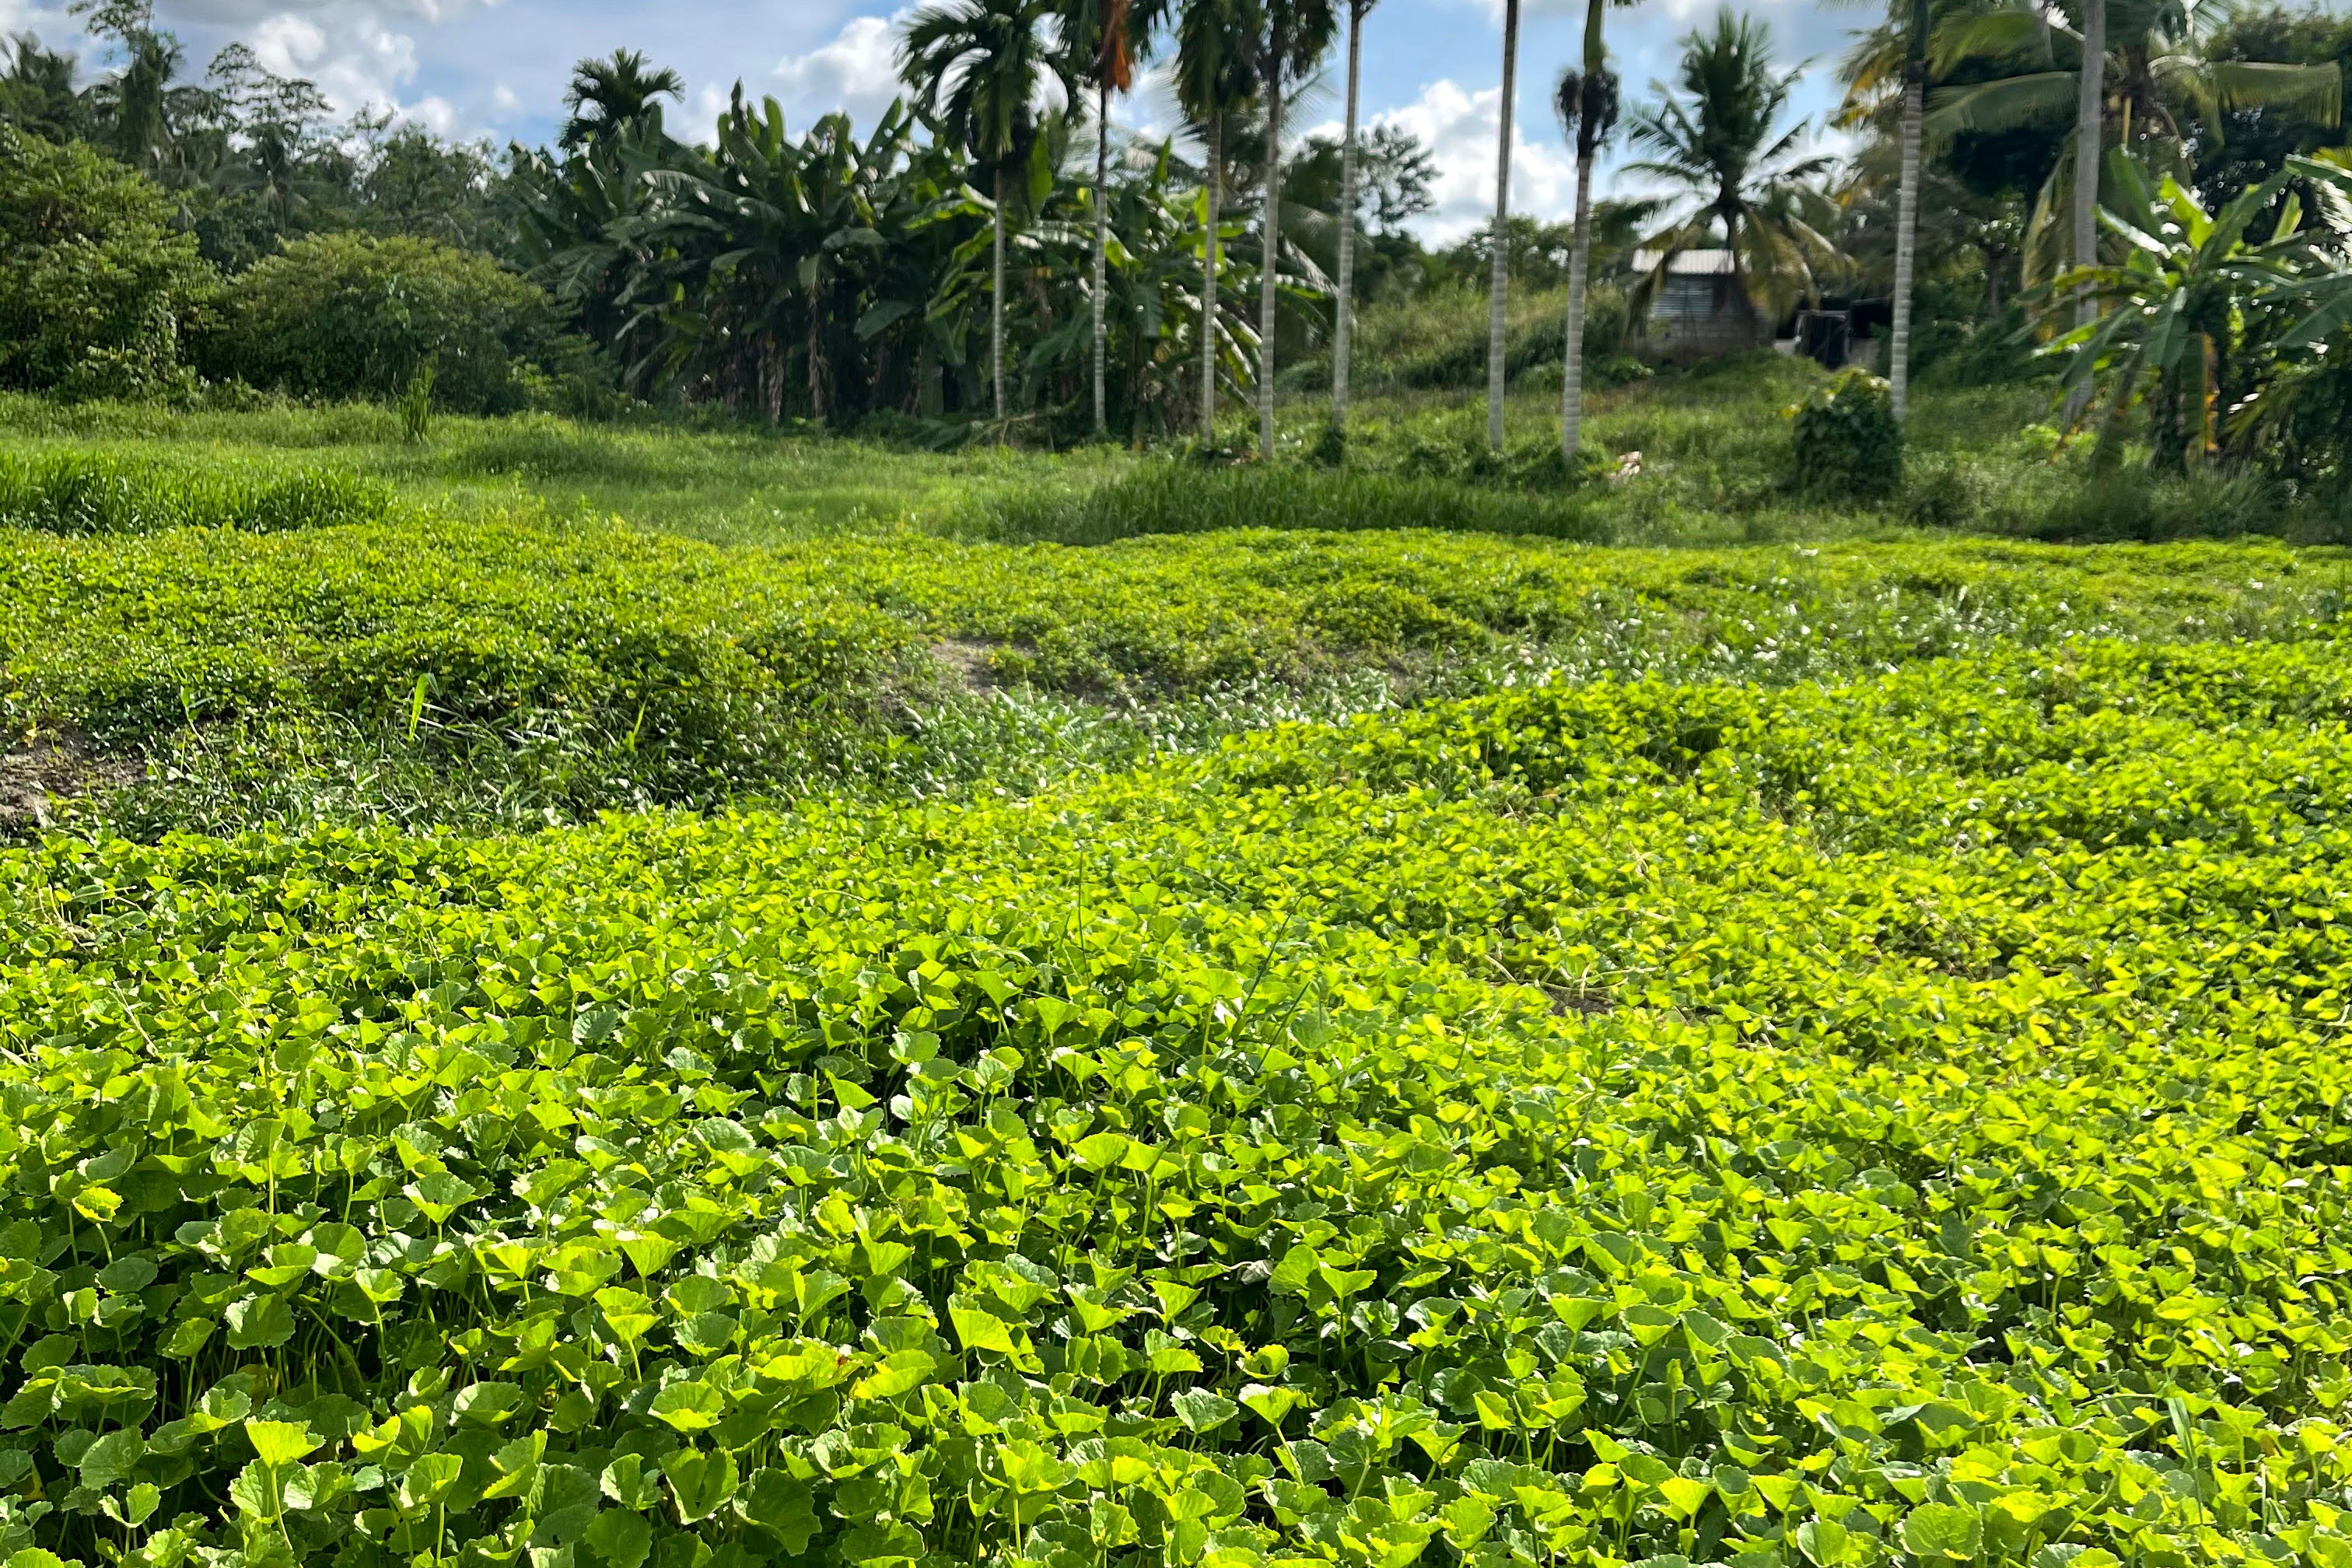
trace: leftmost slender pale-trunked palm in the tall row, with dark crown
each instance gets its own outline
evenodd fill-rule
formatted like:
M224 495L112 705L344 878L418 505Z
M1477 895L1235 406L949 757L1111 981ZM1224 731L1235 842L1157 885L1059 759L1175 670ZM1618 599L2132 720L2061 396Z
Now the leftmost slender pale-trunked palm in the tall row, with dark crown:
M1014 172L1037 143L1037 99L1065 82L1047 38L1051 0L943 0L915 12L898 40L898 78L924 113L993 174L995 235L988 284L988 381L1004 421L1004 209Z

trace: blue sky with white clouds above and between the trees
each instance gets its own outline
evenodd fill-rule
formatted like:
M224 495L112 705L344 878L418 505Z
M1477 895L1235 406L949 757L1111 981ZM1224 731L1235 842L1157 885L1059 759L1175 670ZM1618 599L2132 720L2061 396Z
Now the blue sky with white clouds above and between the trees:
M1811 61L1799 108L1818 125L1835 101L1835 59L1872 14L1867 0L1748 0L1748 9L1771 21L1790 66ZM160 0L155 12L195 61L245 40L268 66L318 80L343 110L393 106L437 132L499 141L546 139L572 61L623 45L684 73L687 122L706 122L736 80L755 96L774 94L793 125L833 108L870 120L894 89L891 28L903 14L896 0ZM1611 12L1611 49L1630 94L1665 75L1675 40L1712 12L1715 0L1642 0ZM1503 0L1383 0L1367 24L1364 113L1397 120L1435 148L1439 209L1423 223L1435 240L1491 212L1501 14ZM1512 190L1519 212L1562 216L1573 200L1573 162L1548 92L1578 49L1581 14L1581 0L1524 0ZM52 45L75 40L61 0L0 0L0 31L24 26ZM1296 122L1336 122L1338 85L1334 63L1329 89ZM1164 129L1174 110L1145 82L1120 120Z

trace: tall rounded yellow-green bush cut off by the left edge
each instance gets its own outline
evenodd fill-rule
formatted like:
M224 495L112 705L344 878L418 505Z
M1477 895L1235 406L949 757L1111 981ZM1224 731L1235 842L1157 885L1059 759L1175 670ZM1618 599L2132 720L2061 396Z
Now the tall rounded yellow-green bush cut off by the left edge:
M181 341L219 277L153 181L82 143L0 125L0 386L151 397L188 386Z

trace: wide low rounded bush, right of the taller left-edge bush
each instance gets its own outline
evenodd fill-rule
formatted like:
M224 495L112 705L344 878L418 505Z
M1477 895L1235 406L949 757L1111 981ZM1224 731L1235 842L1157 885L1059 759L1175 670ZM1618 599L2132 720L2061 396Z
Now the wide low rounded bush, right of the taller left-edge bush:
M562 350L548 296L437 240L313 235L238 280L205 364L296 397L400 397L435 367L456 414L534 400L529 367Z

